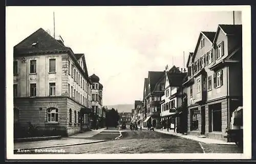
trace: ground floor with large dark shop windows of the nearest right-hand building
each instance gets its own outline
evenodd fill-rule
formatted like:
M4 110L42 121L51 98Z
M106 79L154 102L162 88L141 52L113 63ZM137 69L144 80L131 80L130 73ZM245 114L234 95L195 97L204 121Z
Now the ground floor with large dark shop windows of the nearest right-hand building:
M227 141L226 129L230 127L231 114L242 105L241 98L224 97L188 106L188 133Z

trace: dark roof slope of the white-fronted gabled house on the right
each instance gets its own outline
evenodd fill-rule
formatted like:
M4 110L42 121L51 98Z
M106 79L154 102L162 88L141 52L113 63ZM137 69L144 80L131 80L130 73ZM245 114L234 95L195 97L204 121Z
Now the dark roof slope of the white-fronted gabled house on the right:
M187 73L166 73L169 85L173 87L179 87L182 85Z

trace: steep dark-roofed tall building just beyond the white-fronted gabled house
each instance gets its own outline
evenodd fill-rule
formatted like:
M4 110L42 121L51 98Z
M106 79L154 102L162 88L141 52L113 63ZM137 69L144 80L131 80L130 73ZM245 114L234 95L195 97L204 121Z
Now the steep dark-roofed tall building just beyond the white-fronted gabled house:
M148 71L147 77L147 90L144 90L146 104L146 119L144 120L146 125L152 125L156 128L160 128L160 112L161 105L160 100L164 95L164 75L165 71Z

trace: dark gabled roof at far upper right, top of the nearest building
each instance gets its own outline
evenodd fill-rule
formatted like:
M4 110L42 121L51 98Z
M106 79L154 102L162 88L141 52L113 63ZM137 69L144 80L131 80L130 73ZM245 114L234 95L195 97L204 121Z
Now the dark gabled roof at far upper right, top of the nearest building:
M242 24L219 24L217 32L214 37L214 43L216 42L217 36L220 30L223 31L225 35L241 35L242 34Z

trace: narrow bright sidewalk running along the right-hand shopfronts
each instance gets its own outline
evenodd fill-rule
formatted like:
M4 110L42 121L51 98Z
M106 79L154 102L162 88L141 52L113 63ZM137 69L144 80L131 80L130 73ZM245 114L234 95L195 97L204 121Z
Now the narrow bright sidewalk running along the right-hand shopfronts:
M147 128L142 127L142 129L147 129ZM221 141L221 140L217 140L217 139L210 139L210 138L199 138L196 135L189 135L189 134L184 135L181 133L176 133L176 132L174 132L174 130L167 131L167 129L163 129L163 130L155 129L155 131L160 132L160 133L165 133L165 134L176 135L176 136L179 136L184 139L194 140L194 141L198 141L198 142L205 143L205 144L236 145L236 143L233 143L233 142L225 142L225 141Z

